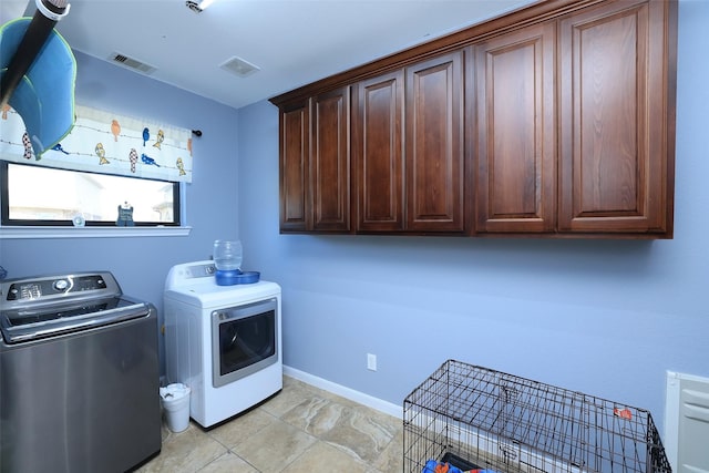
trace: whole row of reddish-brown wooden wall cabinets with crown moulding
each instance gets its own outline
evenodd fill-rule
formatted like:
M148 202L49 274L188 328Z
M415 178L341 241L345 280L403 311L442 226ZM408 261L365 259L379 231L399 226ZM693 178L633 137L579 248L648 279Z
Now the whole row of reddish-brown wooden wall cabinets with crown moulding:
M274 97L281 232L671 238L676 69L677 0L542 0Z

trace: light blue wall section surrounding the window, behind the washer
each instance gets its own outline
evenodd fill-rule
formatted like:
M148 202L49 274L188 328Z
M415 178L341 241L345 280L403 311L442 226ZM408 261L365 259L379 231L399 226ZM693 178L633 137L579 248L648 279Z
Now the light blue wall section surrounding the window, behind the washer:
M75 52L75 56L76 103L202 130L202 137L193 137L194 182L186 185L186 224L192 233L179 237L0 239L0 265L8 277L107 269L125 294L155 304L162 316L169 268L208 259L215 239L238 236L237 111L85 54Z

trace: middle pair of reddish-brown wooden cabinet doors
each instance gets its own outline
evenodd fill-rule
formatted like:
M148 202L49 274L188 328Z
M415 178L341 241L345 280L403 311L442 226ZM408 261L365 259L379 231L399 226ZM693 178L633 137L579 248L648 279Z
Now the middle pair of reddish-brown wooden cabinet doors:
M353 94L357 230L462 232L463 52L361 81Z

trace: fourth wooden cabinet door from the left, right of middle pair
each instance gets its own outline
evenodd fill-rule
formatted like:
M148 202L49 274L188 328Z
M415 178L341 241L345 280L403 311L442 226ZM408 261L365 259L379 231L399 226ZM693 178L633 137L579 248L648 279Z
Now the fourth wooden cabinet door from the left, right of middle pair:
M463 230L463 52L405 70L407 229Z

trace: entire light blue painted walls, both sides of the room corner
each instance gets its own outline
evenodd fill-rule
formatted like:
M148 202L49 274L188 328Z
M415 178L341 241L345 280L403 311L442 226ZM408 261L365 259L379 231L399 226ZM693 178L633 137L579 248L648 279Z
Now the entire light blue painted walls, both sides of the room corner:
M278 115L235 111L76 54L79 103L195 140L188 237L0 239L10 276L109 269L162 308L169 267L240 237L284 289L286 364L394 404L448 358L665 410L665 371L709 376L709 2L680 1L675 239L295 236L278 233ZM366 353L378 356L377 372Z

